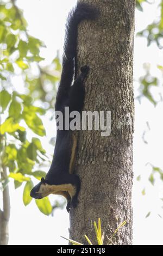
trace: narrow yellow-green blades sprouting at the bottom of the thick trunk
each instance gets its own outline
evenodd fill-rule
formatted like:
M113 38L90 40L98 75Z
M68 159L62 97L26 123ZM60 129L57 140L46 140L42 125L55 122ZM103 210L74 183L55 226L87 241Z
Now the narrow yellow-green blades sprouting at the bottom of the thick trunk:
M118 227L117 229L114 231L114 234L111 236L111 238L109 239L109 237L107 236L109 242L108 242L108 245L110 245L110 242L111 242L111 245L114 245L114 242L112 241L114 236L116 235L116 233L120 230L120 228L122 228L124 225L126 225L127 221L123 221ZM97 240L97 245L103 245L103 242L104 242L104 236L105 236L105 233L103 232L102 234L102 228L101 228L101 218L98 218L98 227L97 227L97 224L96 222L94 221L94 228L95 228L95 233L96 233L96 240ZM87 235L84 235L85 236L85 239L87 241L87 243L89 245L93 245L92 242L90 241L89 237L87 237ZM74 241L72 239L67 239L63 236L61 236L62 238L68 240L69 242L72 243L72 245L83 245L82 243L79 243L77 241Z

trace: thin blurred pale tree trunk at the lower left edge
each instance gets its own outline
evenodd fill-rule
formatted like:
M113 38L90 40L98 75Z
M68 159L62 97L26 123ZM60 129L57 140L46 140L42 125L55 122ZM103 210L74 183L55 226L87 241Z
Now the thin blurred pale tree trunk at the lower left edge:
M7 178L7 169L2 166L1 178ZM0 245L8 245L9 241L9 218L10 218L10 196L9 186L3 190L3 210L0 209Z

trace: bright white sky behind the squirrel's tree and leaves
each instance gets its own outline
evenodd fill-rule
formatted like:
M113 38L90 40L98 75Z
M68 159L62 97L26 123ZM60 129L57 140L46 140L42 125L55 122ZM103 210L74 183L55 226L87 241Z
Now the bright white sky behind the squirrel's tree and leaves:
M155 1L159 3L160 1ZM17 0L18 7L24 10L24 16L28 22L29 34L43 40L47 46L42 51L49 63L56 55L57 50L62 51L64 42L65 21L68 11L76 3L76 0ZM145 28L151 23L158 10L157 4L144 5L144 12L136 11L136 32ZM134 78L135 81L144 74L142 64L152 63L152 74L161 73L156 69L156 64L162 64L162 51L153 44L147 48L146 40L135 39L134 52ZM135 82L135 95L137 94L137 83ZM161 90L161 89L160 89ZM163 245L162 230L163 209L161 201L163 198L163 186L159 179L155 186L147 181L151 172L147 162L163 168L162 145L163 145L163 105L154 108L147 100L142 100L141 105L135 102L135 137L134 137L134 244L139 245ZM151 130L148 130L146 121L149 122ZM44 120L48 138L43 139L45 147L48 147L49 138L54 136L54 126ZM49 130L51 129L51 130ZM142 141L143 131L147 131L146 139L148 144ZM49 148L49 147L48 147ZM50 147L53 154L53 147ZM141 181L137 182L136 177L141 174ZM10 182L11 185L12 182ZM146 195L142 196L141 191L146 187ZM22 187L23 188L23 187ZM34 200L27 207L22 202L22 188L16 191L10 186L11 196L11 217L9 223L9 244L10 245L65 245L67 242L61 239L60 235L68 237L68 214L66 210L56 210L54 216L45 216L36 208ZM20 196L21 195L21 196ZM54 200L54 196L51 197ZM148 218L147 213L152 211Z

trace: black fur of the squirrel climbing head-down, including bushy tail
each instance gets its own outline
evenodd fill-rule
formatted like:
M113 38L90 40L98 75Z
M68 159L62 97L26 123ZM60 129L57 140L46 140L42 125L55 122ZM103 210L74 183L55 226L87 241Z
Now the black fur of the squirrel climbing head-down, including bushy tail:
M81 68L81 74L77 74L77 38L78 25L83 20L93 20L97 16L97 10L85 3L78 3L67 18L66 35L64 44L64 55L62 57L62 73L55 103L55 111L61 111L65 116L64 108L68 106L69 111L82 111L84 103L84 78L89 72L88 66ZM74 83L72 85L74 78ZM80 180L76 174L70 174L69 166L71 159L71 131L57 130L57 140L55 143L54 155L51 167L45 179L37 184L30 196L40 199L43 194L39 193L42 185L65 185L71 184L76 187L76 193L71 198L70 193L66 194L67 211L71 206L78 204L78 193L80 191ZM68 192L68 191L67 191Z

